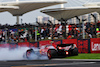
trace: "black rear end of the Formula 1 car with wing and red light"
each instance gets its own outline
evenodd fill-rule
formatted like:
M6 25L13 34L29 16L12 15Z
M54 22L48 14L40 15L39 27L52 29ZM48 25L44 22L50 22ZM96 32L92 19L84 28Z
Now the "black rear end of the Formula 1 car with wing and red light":
M75 55L78 55L78 49L75 44L58 44L55 49L49 49L47 51L49 59Z

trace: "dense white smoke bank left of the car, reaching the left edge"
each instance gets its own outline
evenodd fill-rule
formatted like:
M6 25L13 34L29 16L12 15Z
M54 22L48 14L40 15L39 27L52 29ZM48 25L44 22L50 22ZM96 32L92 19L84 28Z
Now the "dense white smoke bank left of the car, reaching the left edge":
M0 61L2 60L23 60L23 54L29 49L21 47L16 49L0 48Z

